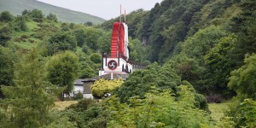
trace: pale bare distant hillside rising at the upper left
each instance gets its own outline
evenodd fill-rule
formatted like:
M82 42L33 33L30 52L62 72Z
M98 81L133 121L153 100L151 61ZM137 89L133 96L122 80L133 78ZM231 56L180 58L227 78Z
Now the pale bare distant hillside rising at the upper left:
M48 3L38 2L36 0L0 0L0 12L7 10L14 15L21 15L24 9L39 9L44 15L57 15L58 20L63 22L85 23L87 21L93 24L101 24L104 19L93 15L84 14L70 9L63 9L50 5ZM64 13L65 12L65 13Z

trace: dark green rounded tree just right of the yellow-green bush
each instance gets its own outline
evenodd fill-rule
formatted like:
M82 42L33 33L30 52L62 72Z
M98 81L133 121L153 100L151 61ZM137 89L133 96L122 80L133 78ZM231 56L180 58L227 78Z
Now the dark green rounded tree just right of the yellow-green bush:
M173 71L172 67L169 65L160 67L154 62L145 69L132 73L129 79L116 90L115 94L119 96L120 102L128 102L132 96L144 98L152 86L172 89L175 92L180 82L180 77Z

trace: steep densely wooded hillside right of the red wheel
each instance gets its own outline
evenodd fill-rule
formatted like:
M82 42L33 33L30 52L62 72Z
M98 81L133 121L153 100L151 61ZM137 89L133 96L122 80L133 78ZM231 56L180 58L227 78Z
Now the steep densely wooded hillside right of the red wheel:
M253 0L164 0L126 20L149 61L172 64L202 94L229 97L231 71L256 52L254 6Z

